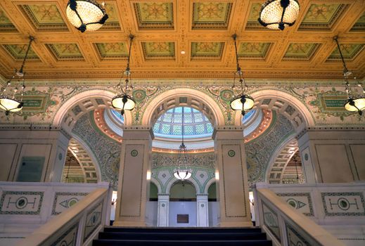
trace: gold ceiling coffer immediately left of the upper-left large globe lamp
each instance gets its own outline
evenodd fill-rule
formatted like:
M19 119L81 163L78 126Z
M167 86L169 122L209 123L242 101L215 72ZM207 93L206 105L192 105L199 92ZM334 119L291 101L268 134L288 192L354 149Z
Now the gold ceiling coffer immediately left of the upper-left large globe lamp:
M27 4L19 8L37 31L68 31L56 4Z

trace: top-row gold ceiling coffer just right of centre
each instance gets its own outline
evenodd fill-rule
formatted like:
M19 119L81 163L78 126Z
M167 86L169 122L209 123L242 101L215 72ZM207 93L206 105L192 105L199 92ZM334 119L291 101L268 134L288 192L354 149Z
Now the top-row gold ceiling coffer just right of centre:
M194 2L193 30L226 30L232 11L229 2Z

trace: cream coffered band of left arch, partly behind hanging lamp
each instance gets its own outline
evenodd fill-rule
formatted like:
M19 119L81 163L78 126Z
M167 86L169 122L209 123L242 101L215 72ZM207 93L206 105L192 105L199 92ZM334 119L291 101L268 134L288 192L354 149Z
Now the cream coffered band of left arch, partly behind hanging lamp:
M70 134L77 119L85 113L97 108L111 108L111 101L115 93L101 89L82 91L72 96L58 109L53 126L62 127ZM132 124L132 113L125 112L124 124Z

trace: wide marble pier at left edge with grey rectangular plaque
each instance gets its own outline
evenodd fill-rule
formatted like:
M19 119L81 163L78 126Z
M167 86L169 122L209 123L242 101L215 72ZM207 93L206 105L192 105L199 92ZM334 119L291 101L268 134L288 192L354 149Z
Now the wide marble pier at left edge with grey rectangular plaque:
M69 141L57 127L1 127L0 181L60 182Z

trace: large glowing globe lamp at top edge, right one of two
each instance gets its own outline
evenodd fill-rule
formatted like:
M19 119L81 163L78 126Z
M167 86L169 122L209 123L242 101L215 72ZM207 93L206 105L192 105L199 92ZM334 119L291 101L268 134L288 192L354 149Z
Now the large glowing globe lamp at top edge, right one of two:
M272 30L284 30L294 25L299 13L297 0L267 0L262 4L259 22Z

